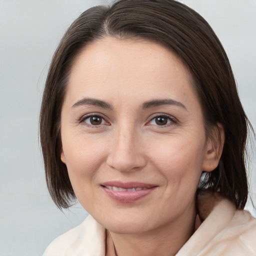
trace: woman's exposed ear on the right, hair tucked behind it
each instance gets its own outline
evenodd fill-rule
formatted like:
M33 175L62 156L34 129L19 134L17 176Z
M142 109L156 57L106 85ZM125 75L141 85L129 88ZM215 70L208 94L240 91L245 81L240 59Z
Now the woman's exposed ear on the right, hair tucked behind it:
M211 135L207 138L206 150L202 164L202 171L212 171L218 166L223 150L225 134L221 123L212 128Z

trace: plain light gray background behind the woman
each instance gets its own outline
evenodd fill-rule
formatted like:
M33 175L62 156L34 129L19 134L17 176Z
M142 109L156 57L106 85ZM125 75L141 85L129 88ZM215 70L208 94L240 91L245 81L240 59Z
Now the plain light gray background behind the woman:
M63 213L46 189L38 112L50 57L61 35L100 0L0 0L0 255L41 255L58 234L80 223L76 204ZM184 0L219 36L241 101L256 125L256 0ZM238 127L237 127L238 128ZM253 149L255 151L255 149ZM255 196L256 163L251 154ZM247 208L255 214L250 204Z

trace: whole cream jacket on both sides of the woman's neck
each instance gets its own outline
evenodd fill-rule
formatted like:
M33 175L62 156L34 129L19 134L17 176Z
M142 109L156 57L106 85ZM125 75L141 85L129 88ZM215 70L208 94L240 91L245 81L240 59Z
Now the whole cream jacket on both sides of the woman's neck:
M176 256L256 255L256 219L249 212L236 210L216 194L199 196L197 206L202 222ZM43 256L104 256L105 235L105 228L89 215L54 239Z

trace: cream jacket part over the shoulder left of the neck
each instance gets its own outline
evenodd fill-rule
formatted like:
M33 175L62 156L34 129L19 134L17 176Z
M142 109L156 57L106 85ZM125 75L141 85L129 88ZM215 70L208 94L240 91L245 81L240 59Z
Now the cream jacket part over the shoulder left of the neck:
M55 238L42 256L104 255L105 229L92 216Z

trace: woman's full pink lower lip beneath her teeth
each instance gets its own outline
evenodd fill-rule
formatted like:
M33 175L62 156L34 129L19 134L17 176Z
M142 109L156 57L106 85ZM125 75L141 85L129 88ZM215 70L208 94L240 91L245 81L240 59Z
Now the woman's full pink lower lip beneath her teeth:
M150 187L138 191L116 191L102 186L105 193L118 202L135 202L149 195L156 187Z

